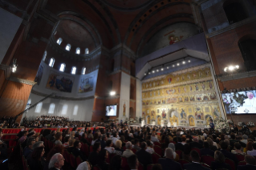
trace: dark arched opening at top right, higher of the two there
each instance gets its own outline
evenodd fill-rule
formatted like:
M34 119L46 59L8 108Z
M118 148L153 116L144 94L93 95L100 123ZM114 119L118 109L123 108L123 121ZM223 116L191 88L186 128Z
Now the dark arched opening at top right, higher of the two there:
M223 8L230 24L240 22L247 18L246 11L244 10L241 2L228 0L223 4Z

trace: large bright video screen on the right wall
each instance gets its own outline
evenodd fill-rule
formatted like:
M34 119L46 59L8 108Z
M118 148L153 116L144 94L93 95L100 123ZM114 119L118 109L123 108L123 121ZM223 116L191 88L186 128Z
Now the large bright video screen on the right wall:
M222 100L227 114L256 114L256 91L223 93Z

